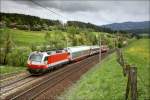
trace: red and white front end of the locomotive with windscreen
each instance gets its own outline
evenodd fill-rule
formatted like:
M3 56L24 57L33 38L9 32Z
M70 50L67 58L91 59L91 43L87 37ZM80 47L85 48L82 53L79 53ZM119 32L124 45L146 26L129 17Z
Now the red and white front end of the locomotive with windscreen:
M42 74L48 69L46 53L32 52L27 61L28 71L31 74Z

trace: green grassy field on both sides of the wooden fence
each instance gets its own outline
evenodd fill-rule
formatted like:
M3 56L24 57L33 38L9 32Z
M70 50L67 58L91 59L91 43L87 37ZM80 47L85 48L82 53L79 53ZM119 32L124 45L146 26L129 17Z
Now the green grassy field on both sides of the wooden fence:
M138 99L149 100L149 39L131 43L124 49L126 61L138 68ZM59 100L123 100L127 78L116 62L116 54L108 56L66 90Z

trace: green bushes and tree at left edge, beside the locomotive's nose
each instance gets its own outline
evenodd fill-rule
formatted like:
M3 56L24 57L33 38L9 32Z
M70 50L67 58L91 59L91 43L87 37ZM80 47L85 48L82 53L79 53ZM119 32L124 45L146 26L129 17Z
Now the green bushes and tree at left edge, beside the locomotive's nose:
M16 47L7 28L0 30L0 35L0 65L26 66L31 49Z

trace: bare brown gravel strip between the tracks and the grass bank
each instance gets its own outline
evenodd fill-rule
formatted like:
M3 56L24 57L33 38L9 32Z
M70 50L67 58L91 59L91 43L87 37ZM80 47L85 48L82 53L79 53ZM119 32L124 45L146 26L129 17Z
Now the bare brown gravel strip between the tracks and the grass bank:
M92 66L97 64L97 61L94 60L92 62L88 62L85 65L80 66L75 71L70 72L66 77L65 75L62 77L60 81L53 82L51 86L47 87L45 90L40 91L37 95L34 96L34 100L56 100L57 95L60 95L66 88L74 84L80 77L87 72Z

